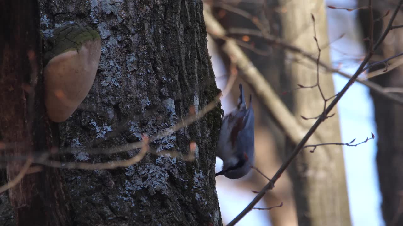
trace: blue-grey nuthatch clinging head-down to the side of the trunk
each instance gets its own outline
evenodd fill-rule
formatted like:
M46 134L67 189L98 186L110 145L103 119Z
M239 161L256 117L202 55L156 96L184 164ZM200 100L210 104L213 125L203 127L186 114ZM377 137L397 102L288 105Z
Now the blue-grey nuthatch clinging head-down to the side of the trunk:
M224 162L222 171L216 173L230 179L239 179L251 169L255 160L255 115L249 98L249 108L246 108L242 85L237 108L222 118L220 135L218 137L216 156Z

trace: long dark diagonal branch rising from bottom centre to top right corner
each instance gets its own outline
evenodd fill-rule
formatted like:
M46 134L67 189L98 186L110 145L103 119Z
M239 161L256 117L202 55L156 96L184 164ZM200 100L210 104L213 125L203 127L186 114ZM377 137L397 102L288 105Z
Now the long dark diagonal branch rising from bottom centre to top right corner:
M339 102L341 97L343 97L343 95L348 90L348 88L354 83L355 80L357 80L357 77L359 76L359 74L362 73L364 66L371 59L373 52L379 47L380 43L382 43L382 41L385 39L386 35L389 33L392 23L395 20L397 13L399 12L399 9L401 8L402 4L403 4L403 0L400 0L398 6L396 7L395 11L393 12L393 15L391 16L391 19L390 19L388 26L386 27L384 33L382 34L380 39L374 45L373 51L369 52L366 55L366 57L364 58L361 65L358 67L357 71L354 73L354 75L351 77L351 79L347 82L347 84L343 87L343 89L339 92L339 95L337 95L337 97L335 97L333 99L333 101L329 104L329 106L326 108L325 115L328 115L328 113L330 113L330 111L333 109L333 107L336 106L336 104ZM314 125L312 125L310 130L307 132L307 134L305 134L303 139L297 144L297 146L293 150L291 156L289 156L287 158L287 160L280 166L280 168L278 169L276 174L274 174L271 181L269 183L267 183L266 186L264 186L264 188L258 193L258 195L256 195L256 197L251 201L251 203L249 203L249 205L247 205L247 207L238 216L236 216L229 224L227 224L227 226L233 226L237 222L239 222L239 220L241 220L256 205L256 203L258 203L258 201L260 199L262 199L262 197L266 194L266 191L268 191L269 189L272 189L274 187L274 183L284 173L284 171L287 169L289 164L291 164L291 162L294 160L294 158L297 156L297 154L299 154L300 150L303 148L303 146L305 145L307 140L314 134L314 132L319 127L319 125L322 123L322 121L323 121L322 117L320 117L318 120L316 120Z

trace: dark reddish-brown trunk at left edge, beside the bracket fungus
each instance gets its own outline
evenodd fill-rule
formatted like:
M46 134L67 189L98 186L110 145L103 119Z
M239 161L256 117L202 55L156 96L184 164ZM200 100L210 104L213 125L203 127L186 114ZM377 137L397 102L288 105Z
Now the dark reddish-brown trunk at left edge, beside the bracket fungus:
M7 156L25 157L50 150L54 142L43 101L37 1L2 2L0 33L0 150L4 148ZM8 181L17 177L23 165L29 164L27 159L8 161ZM5 177L0 181L2 185L7 183ZM71 225L56 168L43 167L25 175L0 197L2 225ZM14 212L10 211L11 206Z

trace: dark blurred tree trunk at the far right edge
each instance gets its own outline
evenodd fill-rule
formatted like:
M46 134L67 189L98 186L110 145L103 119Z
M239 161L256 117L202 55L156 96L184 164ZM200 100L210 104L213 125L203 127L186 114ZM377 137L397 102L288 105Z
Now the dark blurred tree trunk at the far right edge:
M358 6L368 5L368 0L359 0ZM374 18L378 19L385 15L388 10L393 11L397 0L373 1ZM363 37L369 37L370 26L369 10L359 10L358 20L361 23ZM391 13L381 18L381 21L374 23L374 41L378 40L391 18ZM393 25L403 24L402 9L397 14ZM376 51L373 61L383 60L393 55L403 52L403 30L393 29L389 32L385 41ZM368 41L364 42L368 51ZM389 61L393 64L400 58ZM372 61L372 62L373 62ZM382 70L384 64L373 67L369 72ZM371 80L383 87L403 87L403 67L399 66L385 74L376 76ZM376 163L378 165L378 175L380 191L382 193L382 215L387 226L403 225L403 107L392 101L384 99L375 92L370 92L374 101L375 121L378 133L378 152ZM397 93L397 95L402 96Z

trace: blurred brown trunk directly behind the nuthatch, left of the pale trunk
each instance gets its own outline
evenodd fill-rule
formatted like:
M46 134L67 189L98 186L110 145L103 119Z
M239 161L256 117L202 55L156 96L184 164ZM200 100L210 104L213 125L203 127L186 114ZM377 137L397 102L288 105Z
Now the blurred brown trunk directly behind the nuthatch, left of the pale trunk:
M266 2L264 2L266 1ZM239 40L245 40L242 37L244 35L232 34L231 32L237 28L249 28L257 29L249 18L245 18L236 12L236 9L244 10L251 16L256 16L264 24L270 35L280 37L281 36L281 24L278 13L278 1L277 0L262 0L256 2L233 2L226 3L225 1L213 0L206 1L212 5L213 12L222 24L222 26L229 32L229 36ZM232 10L235 9L235 10ZM213 31L214 32L214 31ZM283 49L268 46L266 41L259 37L246 35L249 41L247 43L260 52L265 52L266 55L258 54L256 51L241 47L247 54L249 59L253 62L259 71L265 76L270 85L277 93L281 93L284 90L290 90L290 82L287 74L284 73L284 51ZM220 45L224 43L220 39L216 39L216 42L220 48ZM230 72L230 59L228 56L221 52L221 57L226 64L227 71ZM242 73L242 72L239 72ZM241 77L241 76L239 76ZM238 83L244 83L241 78L237 80L233 87L232 97L233 103L237 102L239 97ZM245 87L245 86L244 86ZM245 96L249 96L249 87L245 87ZM256 96L253 95L253 109L255 111L255 153L256 162L255 165L265 175L271 177L280 167L281 160L279 154L282 155L285 144L284 133L278 128L278 126L268 117L264 108L261 107ZM282 100L292 107L292 98L290 95L281 96ZM227 113L227 112L225 112ZM280 152L280 153L278 153ZM230 183L237 183L237 187L243 187L245 190L260 190L266 183L267 179L262 175L253 171L253 177L249 177L247 181L231 181ZM219 182L218 182L219 183ZM292 184L284 173L280 180L276 183L274 190L269 191L264 196L264 201L267 206L279 205L282 201L284 203L281 208L274 208L268 211L268 218L272 222L273 226L291 226L297 224L297 217L295 212L295 203L293 198ZM229 219L232 220L232 219Z

